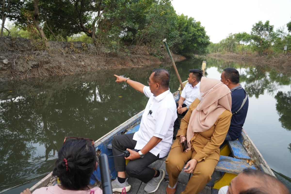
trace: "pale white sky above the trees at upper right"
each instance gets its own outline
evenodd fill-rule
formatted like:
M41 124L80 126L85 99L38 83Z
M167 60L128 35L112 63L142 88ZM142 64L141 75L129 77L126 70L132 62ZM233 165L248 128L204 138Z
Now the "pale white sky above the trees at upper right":
M252 25L262 20L277 28L291 21L291 0L173 0L177 14L201 22L210 41L218 43L230 33L250 33Z

